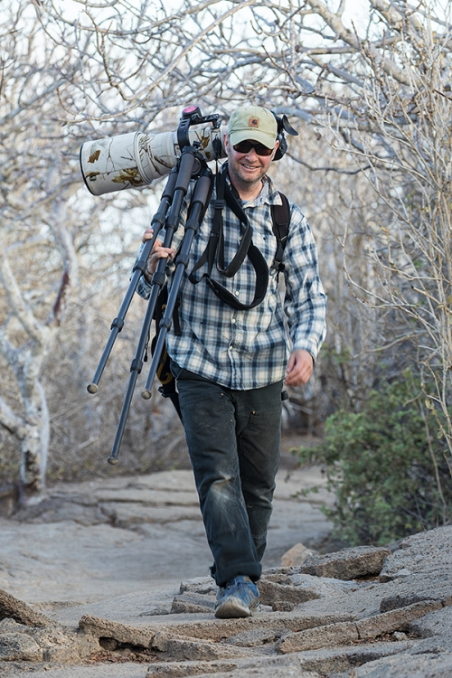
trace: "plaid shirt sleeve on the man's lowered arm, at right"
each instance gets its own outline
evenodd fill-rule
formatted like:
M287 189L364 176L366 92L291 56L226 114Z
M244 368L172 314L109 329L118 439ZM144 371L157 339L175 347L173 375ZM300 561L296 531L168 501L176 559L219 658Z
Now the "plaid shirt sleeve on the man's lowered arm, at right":
M318 271L315 240L306 217L293 202L284 252L285 311L293 350L314 360L326 334L326 295Z

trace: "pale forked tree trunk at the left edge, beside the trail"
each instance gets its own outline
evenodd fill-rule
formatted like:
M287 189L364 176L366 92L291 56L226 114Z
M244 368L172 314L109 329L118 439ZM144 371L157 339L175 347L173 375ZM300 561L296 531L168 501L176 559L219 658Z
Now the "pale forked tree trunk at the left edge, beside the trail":
M52 183L54 173L49 173L49 177ZM52 203L49 221L53 243L60 252L63 267L59 289L51 312L44 322L33 314L33 307L24 297L8 259L8 250L0 255L0 281L5 288L11 313L0 328L0 353L14 372L24 407L24 414L21 416L14 413L5 400L0 399L0 425L13 433L20 443L19 480L23 503L40 501L45 487L50 417L41 381L42 365L61 325L72 278L77 275L77 257L70 232L65 226L66 208L62 196ZM26 339L17 347L14 343L19 326L25 331Z

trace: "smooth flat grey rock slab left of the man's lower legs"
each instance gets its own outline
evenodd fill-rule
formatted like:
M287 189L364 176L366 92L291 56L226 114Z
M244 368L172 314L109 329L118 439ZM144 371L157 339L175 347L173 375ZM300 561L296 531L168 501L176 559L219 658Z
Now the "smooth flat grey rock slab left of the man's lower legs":
M88 602L208 573L201 523L141 527L0 520L0 589L31 603Z

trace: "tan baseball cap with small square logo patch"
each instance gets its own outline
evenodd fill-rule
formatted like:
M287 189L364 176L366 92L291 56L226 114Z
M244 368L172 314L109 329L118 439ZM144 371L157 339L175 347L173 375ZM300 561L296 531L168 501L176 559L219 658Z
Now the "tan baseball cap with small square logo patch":
M250 139L273 148L278 134L277 121L268 108L241 106L234 110L228 123L231 145Z

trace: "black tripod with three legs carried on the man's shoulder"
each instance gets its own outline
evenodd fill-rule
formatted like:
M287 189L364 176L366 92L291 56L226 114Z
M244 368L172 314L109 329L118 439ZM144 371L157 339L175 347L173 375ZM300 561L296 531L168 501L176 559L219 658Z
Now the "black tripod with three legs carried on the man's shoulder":
M200 121L198 112L196 112L194 115L192 114L192 116L189 116L189 118L192 118L194 120L194 123L198 123ZM206 118L202 118L202 120L205 119ZM210 116L207 119L212 120L216 118ZM185 116L185 118L183 117L180 126L181 134L179 135L179 142L181 145L184 143L184 138L187 137L185 131L187 127L189 127L189 125L190 120L188 120L187 122L187 116ZM137 260L135 264L126 295L118 311L118 316L113 320L110 326L110 334L105 349L101 355L98 368L94 374L93 380L89 383L87 387L89 393L96 393L98 391L99 380L105 369L105 365L108 361L109 354L111 353L111 350L118 337L119 332L124 326L124 318L127 314L127 310L128 307L130 306L132 297L134 296L134 293L137 290L138 281L146 270L147 258L152 248L154 247L155 240L157 239L159 231L161 231L164 228L165 228L164 247L169 248L171 246L174 233L175 231L177 231L179 226L184 198L188 193L189 184L192 181L192 179L196 180L196 184L192 193L188 218L184 225L184 237L182 240L181 247L174 261L175 270L173 281L171 289L169 290L168 293L165 313L159 324L158 338L155 344L154 355L149 369L149 374L146 380L146 386L141 393L142 397L145 400L148 400L151 397L152 383L154 381L155 374L158 369L161 354L165 349L166 335L172 324L174 308L177 302L179 289L183 280L184 271L188 265L188 258L190 249L192 247L193 238L198 232L199 227L202 223L202 218L206 210L207 204L209 202L212 191L212 171L207 166L204 158L202 157L199 151L198 146L195 145L184 146L182 155L177 165L172 169L168 177L168 181L165 186L164 193L162 194L160 205L158 207L157 212L155 212L155 216L151 221L151 227L154 229L153 237L151 240L146 240L141 250L140 258ZM130 377L127 384L127 391L118 421L118 428L115 440L113 443L110 456L108 457L108 463L112 465L118 464L119 448L124 435L124 430L126 428L127 416L130 410L132 397L137 385L137 378L143 368L146 347L149 340L150 327L152 324L153 317L155 315L155 306L157 303L157 297L159 296L162 288L165 285L166 280L165 267L166 259L159 259L157 266L155 268L155 273L152 277L151 291L147 301L145 318L138 338L137 350L135 353L135 357L130 365Z

